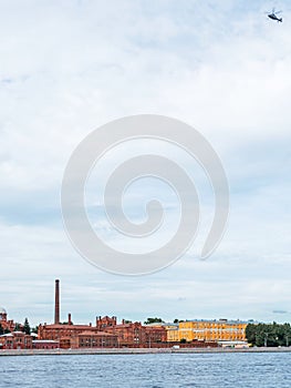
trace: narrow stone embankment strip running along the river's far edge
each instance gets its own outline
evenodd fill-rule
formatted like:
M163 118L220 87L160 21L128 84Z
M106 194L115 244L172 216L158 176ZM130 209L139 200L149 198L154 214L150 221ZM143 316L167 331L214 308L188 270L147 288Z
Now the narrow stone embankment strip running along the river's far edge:
M229 353L290 353L291 347L281 348L122 348L122 349L2 349L1 356L72 356L72 355L146 355L146 354L229 354Z

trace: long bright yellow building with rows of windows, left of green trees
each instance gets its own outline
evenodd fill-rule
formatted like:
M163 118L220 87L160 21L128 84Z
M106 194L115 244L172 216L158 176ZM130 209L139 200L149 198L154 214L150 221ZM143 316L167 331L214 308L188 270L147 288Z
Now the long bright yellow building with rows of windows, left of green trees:
M248 323L241 320L186 320L179 323L179 340L245 341Z

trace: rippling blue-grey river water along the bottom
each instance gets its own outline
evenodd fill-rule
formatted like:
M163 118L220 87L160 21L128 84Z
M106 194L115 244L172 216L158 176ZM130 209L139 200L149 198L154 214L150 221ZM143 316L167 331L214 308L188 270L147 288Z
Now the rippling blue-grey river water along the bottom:
M0 387L291 387L291 353L0 357Z

